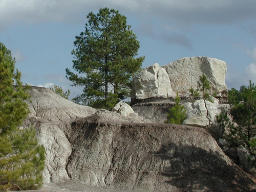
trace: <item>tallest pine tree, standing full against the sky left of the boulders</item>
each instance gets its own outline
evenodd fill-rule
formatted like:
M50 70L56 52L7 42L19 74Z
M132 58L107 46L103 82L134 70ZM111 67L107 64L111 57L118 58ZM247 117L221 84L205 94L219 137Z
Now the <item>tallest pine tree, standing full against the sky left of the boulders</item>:
M139 49L136 35L126 17L114 9L89 13L86 30L76 36L72 51L73 68L66 69L73 86L84 86L75 100L97 108L110 109L118 100L130 97L131 80L144 57L134 58Z

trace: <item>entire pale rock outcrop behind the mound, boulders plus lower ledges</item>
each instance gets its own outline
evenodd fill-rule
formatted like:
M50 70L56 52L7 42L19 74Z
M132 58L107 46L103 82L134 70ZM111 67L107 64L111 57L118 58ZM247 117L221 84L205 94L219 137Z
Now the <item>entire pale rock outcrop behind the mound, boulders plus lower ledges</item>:
M220 126L216 116L230 110L227 104L226 70L224 61L208 57L182 58L162 67L157 63L153 64L134 78L131 94L132 108L135 113L151 119L154 123L164 123L167 120L168 109L175 105L173 100L176 94L174 92L178 92L181 97L180 105L184 105L187 111L187 118L183 125L206 128L216 140L223 138L227 130ZM198 88L198 81L202 74L206 75L210 82L209 93L216 94L215 97L218 98L212 97L213 102L192 98L190 95L189 89ZM228 118L231 119L229 115ZM220 145L222 144L220 142ZM255 169L248 161L248 158L254 157L250 156L245 148L225 148L223 148L225 154L236 161L246 172L255 175Z

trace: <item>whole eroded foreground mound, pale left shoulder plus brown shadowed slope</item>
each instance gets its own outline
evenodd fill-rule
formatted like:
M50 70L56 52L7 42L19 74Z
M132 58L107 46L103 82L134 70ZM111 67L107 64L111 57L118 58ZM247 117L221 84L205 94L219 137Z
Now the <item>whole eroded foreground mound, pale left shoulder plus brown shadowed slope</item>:
M30 93L25 126L33 125L46 147L45 182L166 192L256 189L204 129L79 106L45 88Z

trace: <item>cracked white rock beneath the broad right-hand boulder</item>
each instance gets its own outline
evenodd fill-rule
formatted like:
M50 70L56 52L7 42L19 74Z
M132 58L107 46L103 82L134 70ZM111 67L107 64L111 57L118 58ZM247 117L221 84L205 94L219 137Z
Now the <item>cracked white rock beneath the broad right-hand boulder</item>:
M212 98L214 103L203 99L196 100L194 103L184 104L188 117L183 122L184 125L193 125L196 127L205 127L216 122L216 115L224 112L229 107L228 104L219 105L217 99ZM208 115L207 115L208 111Z

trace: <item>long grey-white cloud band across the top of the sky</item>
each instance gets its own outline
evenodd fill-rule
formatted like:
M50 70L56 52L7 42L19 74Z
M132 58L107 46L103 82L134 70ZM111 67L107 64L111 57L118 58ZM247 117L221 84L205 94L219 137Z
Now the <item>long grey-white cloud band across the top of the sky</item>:
M256 17L255 0L1 0L0 31L13 23L84 23L86 15L97 13L100 7L136 17L142 35L188 49L192 45L184 26L189 28L190 23L231 23Z

